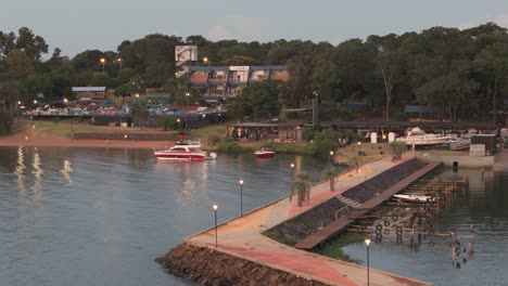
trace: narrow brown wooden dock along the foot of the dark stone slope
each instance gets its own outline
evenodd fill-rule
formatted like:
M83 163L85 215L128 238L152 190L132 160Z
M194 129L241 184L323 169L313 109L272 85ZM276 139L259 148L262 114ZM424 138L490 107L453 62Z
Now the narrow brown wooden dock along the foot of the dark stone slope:
M408 187L412 183L415 183L418 179L427 174L428 172L432 171L436 167L439 167L441 162L439 161L431 161L426 167L421 168L420 170L416 171L409 177L401 180L392 187L380 192L378 196L370 198L369 200L365 202L358 208L353 208L357 216L367 214L371 209L378 207L379 205L383 204L384 202L389 200L394 194L403 191L404 188ZM327 226L322 227L321 230L317 231L316 233L312 234L310 236L300 240L294 247L299 249L312 250L328 239L334 237L336 234L343 232L351 223L355 221L354 218L342 216L334 222L328 224Z

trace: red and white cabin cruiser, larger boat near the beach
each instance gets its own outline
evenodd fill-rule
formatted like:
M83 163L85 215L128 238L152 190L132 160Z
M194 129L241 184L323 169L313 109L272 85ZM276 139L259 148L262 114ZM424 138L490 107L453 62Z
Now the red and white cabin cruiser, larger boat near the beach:
M199 142L177 142L175 146L166 150L154 151L153 155L160 160L174 160L174 161L202 161L207 159L215 159L217 154L212 152L201 151Z

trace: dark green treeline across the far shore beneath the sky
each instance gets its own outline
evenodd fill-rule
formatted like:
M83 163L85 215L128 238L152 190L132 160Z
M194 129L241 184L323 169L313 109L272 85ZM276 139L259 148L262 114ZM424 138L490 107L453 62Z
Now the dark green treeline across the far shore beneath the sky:
M443 119L495 120L508 93L507 29L493 23L370 36L338 46L302 40L213 42L201 36L183 40L156 34L124 41L116 52L89 50L73 58L54 49L47 61L41 60L48 53L45 39L21 28L17 34L0 31L0 105L14 108L17 101L31 101L40 92L56 100L68 96L72 86L106 86L118 96L158 88L175 101L186 100L187 92L198 99L199 90L175 77L174 49L180 44L198 46L200 58L207 57L211 65L288 66L289 82L246 88L238 98L277 93L270 102L277 106L266 101L241 106L236 100L231 107L237 117L274 116L281 107L299 107L318 94L326 103L322 119L346 117L340 103L363 102L386 120L403 119L407 104L433 106Z

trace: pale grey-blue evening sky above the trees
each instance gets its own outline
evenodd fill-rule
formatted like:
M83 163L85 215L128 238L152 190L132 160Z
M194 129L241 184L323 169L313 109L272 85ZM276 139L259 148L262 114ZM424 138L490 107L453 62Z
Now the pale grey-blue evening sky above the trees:
M487 22L508 28L507 0L0 0L0 31L17 35L28 27L45 38L49 55L60 48L69 57L86 50L117 51L124 40L151 34L339 44Z

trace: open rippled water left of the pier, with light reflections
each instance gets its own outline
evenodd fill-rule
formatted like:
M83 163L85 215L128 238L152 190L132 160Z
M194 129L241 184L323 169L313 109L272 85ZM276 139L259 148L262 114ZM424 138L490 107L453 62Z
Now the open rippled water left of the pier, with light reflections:
M191 285L154 259L218 220L288 194L310 156L157 162L147 150L0 147L0 285Z

